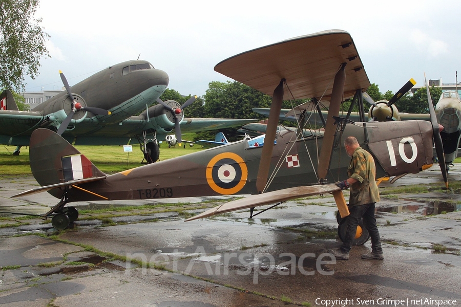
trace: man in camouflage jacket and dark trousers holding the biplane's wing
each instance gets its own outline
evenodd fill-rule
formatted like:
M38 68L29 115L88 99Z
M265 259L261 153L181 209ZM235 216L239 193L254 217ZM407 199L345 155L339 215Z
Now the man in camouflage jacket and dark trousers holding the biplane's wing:
M351 157L347 169L348 179L338 182L342 190L350 187L349 216L347 216L347 231L343 245L340 248L328 250L337 259L349 259L349 251L355 239L357 226L363 218L363 224L370 233L371 253L362 255L362 259L384 259L381 248L380 233L376 227L374 204L380 200L380 192L376 185L376 166L368 151L360 147L355 137L347 137L344 141L347 155Z

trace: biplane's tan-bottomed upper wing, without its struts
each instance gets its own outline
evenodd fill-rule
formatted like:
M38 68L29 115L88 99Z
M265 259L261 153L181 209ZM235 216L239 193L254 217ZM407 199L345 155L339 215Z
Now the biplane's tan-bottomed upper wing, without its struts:
M331 77L342 63L346 63L347 99L359 89L365 91L370 81L350 34L343 30L299 36L243 52L218 63L215 71L270 96L285 78L289 86L285 97L329 100Z

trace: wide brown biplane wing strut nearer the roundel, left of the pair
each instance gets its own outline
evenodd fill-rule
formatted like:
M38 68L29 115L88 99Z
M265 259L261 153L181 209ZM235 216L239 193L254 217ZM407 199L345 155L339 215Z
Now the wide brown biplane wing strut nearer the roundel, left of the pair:
M256 188L258 193L262 193L267 183L267 176L269 175L270 159L272 158L272 151L274 149L274 140L277 132L277 125L279 123L280 109L282 108L283 101L283 83L285 79L280 80L279 85L274 90L272 96L272 103L270 105L269 120L267 122L266 136L264 139L264 146L261 152L261 160L259 162L258 177L256 179ZM272 140L272 141L271 141ZM266 146L267 145L267 146Z

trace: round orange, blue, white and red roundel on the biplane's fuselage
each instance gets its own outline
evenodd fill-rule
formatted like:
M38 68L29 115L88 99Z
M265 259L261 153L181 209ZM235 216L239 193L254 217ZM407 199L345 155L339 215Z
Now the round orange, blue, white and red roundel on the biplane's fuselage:
M240 191L246 183L247 176L245 161L233 152L220 153L206 166L206 181L209 187L224 195Z

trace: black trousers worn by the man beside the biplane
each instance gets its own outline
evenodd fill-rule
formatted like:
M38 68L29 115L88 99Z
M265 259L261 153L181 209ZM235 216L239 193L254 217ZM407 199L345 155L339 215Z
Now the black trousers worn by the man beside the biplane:
M355 233L357 232L357 226L359 221L363 218L363 224L370 233L371 237L371 250L375 253L383 253L381 248L380 232L376 227L376 218L374 217L374 204L358 205L349 208L349 215L347 218L347 231L341 249L345 252L349 252L352 243L355 239Z

